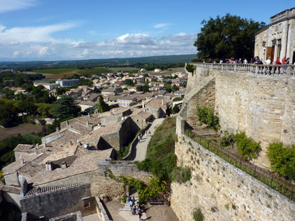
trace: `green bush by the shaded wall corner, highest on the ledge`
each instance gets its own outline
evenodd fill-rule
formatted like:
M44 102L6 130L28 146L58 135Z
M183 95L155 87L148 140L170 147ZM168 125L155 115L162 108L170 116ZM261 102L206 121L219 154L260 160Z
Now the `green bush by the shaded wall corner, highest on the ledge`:
M212 109L208 107L196 107L196 115L199 117L201 125L206 124L209 127L213 127L215 130L219 130L219 117L214 116Z

